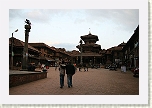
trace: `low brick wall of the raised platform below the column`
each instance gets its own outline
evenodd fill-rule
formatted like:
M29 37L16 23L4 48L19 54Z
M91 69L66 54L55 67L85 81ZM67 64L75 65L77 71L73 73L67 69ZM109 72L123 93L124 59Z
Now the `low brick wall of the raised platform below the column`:
M25 74L10 74L9 87L18 86L39 79L47 78L47 72L25 73Z

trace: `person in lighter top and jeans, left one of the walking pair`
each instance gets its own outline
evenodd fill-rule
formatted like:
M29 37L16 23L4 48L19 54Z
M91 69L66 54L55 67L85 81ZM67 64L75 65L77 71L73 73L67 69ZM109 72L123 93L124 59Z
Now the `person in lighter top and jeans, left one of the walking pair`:
M59 65L59 71L60 71L60 88L63 88L63 86L64 86L65 69L66 69L66 65L64 64L64 61L62 61L62 63Z

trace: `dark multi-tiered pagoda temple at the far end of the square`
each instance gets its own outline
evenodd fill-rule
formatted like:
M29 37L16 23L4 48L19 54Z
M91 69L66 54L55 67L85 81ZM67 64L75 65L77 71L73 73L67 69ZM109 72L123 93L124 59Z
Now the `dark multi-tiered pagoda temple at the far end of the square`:
M82 59L82 63L95 65L101 63L101 46L96 44L99 41L97 35L92 35L90 32L88 35L80 36L82 41L80 45L76 47L79 49L80 53L75 55L77 56L78 63Z

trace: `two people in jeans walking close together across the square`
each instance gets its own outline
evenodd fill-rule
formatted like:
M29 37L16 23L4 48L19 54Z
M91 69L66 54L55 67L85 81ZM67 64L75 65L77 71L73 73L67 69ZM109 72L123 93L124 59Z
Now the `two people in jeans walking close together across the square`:
M69 62L67 65L65 65L64 61L59 66L60 71L60 88L63 88L64 86L64 76L65 73L67 74L67 83L68 87L72 87L72 76L75 74L75 67L74 65Z

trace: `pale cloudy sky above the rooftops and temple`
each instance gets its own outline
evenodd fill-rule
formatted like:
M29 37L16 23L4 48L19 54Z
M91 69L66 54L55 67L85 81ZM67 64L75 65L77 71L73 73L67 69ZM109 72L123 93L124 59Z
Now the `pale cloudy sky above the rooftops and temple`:
M25 19L32 23L29 43L78 50L80 36L97 35L102 49L127 42L139 24L138 9L9 9L9 35L25 41ZM90 29L89 29L90 28Z

